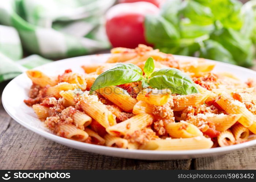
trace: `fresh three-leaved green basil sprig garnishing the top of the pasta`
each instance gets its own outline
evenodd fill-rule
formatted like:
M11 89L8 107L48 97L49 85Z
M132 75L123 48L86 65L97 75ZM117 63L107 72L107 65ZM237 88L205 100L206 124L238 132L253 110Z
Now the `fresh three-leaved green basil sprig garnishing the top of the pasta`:
M149 86L157 89L168 88L172 94L199 93L193 80L182 71L175 68L162 68L157 71L154 69L154 60L151 57L147 59L143 69L146 78L143 78L143 72L138 66L119 63L96 78L91 86L90 94L106 86L117 86L138 81L142 81L143 88Z

